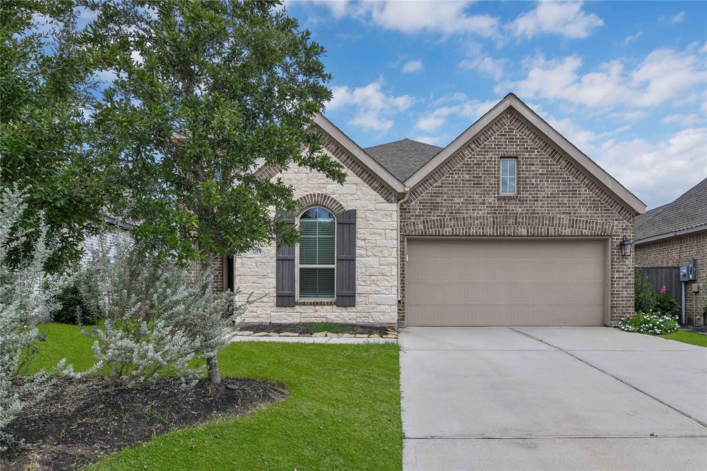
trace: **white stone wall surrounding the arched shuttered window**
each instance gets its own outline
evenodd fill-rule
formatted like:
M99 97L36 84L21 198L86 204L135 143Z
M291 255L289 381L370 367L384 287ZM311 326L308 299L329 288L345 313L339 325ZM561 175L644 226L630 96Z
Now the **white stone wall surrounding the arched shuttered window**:
M322 173L293 166L279 177L292 185L303 207L329 202L332 212L356 209L356 306L342 308L331 303L275 306L275 246L248 252L235 260L238 302L249 293L264 298L248 308L244 322L376 322L395 323L397 318L397 203L395 195L378 185L370 186L370 175L352 165L346 153L333 142L327 151L347 170L346 183L339 185ZM268 174L272 177L272 174Z

